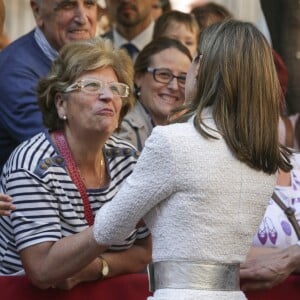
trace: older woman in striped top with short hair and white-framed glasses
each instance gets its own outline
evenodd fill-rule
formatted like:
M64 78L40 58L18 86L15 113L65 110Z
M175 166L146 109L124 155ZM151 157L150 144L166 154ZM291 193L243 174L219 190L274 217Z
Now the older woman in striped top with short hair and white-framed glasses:
M0 274L25 273L40 288L137 272L151 258L142 225L123 242L93 241L93 216L132 172L137 152L111 134L132 105L124 50L95 39L65 46L38 101L48 130L21 144L3 169L16 210L0 220Z

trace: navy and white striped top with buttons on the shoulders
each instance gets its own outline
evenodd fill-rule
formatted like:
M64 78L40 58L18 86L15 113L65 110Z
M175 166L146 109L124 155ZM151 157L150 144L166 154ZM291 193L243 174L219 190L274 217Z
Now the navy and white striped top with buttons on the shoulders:
M104 188L87 190L94 215L113 199L138 156L130 144L116 137L107 141L103 152L110 182ZM0 218L0 275L24 271L20 250L57 241L88 226L80 193L48 132L37 134L15 149L4 166L1 189L12 196L17 209L9 217ZM145 227L134 229L123 243L110 250L128 249L136 239L149 234Z

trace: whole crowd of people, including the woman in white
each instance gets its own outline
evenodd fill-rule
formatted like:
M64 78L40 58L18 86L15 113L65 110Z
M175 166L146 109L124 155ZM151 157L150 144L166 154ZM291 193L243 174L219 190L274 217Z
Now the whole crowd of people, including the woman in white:
M150 299L242 300L300 272L280 38L214 2L30 5L0 51L0 276L68 290L148 265Z

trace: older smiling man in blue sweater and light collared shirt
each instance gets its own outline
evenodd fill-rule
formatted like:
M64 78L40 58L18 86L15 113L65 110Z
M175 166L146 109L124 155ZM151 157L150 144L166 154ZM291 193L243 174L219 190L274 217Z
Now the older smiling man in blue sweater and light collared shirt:
M0 52L0 172L13 149L43 128L35 89L66 43L95 36L96 0L30 0L36 28Z

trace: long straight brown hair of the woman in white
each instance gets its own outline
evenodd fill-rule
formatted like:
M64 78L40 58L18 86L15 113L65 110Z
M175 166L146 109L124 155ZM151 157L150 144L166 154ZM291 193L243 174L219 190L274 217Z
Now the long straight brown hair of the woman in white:
M211 25L201 34L197 91L188 104L196 129L209 133L202 112L211 107L218 131L233 155L266 173L291 169L278 138L280 85L272 50L252 24L229 20Z

